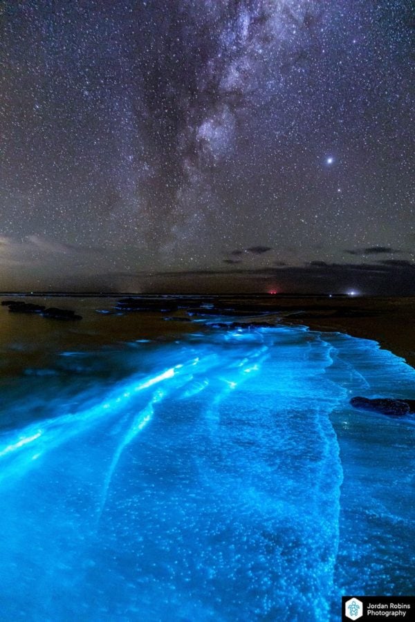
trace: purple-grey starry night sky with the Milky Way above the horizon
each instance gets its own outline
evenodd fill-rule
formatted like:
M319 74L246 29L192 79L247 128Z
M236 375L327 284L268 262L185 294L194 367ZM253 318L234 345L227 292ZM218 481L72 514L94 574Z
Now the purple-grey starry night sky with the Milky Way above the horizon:
M0 0L0 290L415 294L412 0Z

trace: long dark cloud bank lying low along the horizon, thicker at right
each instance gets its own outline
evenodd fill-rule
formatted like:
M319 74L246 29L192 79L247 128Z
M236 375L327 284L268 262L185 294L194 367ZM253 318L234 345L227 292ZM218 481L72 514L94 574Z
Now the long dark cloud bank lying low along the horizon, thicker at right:
M250 293L277 287L285 293L345 294L356 290L366 295L415 295L415 268L411 264L348 264L320 262L319 265L247 268L228 264L223 270L181 270L163 272L116 271L85 274L71 280L73 290L142 293ZM62 288L59 273L51 282Z

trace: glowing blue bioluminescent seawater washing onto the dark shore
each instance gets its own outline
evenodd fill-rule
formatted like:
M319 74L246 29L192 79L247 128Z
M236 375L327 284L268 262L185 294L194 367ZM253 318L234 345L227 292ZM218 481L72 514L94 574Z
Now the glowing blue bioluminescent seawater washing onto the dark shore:
M337 620L342 594L411 593L414 420L349 406L415 397L401 359L298 327L6 313L2 620Z

